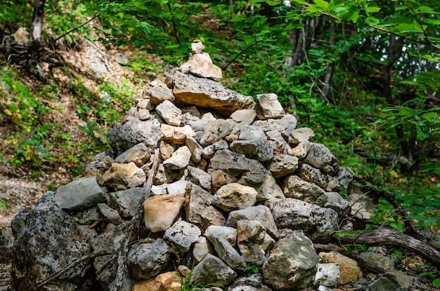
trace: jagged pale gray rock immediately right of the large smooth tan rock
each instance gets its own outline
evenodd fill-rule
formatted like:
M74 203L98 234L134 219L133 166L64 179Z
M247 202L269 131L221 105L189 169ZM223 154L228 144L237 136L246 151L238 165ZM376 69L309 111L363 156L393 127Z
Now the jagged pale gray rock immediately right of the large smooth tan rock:
M188 222L196 224L203 231L209 225L225 226L226 219L219 210L214 208L212 199L212 194L197 185L193 185L189 202L185 205Z

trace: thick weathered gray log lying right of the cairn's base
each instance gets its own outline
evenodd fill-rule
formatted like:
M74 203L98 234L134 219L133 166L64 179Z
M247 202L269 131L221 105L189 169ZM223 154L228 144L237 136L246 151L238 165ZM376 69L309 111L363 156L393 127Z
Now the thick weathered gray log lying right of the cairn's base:
M382 228L365 232L359 236L342 236L339 241L342 243L365 243L367 245L394 245L415 252L436 265L440 264L440 250L412 236L401 234L394 229Z

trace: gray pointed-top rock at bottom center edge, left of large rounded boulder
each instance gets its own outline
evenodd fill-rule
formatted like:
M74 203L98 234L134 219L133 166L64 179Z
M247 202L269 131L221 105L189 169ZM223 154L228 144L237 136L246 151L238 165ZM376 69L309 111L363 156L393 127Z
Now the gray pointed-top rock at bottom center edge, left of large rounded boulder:
M202 262L193 269L193 280L200 285L215 284L226 286L232 282L237 273L218 257L207 254Z

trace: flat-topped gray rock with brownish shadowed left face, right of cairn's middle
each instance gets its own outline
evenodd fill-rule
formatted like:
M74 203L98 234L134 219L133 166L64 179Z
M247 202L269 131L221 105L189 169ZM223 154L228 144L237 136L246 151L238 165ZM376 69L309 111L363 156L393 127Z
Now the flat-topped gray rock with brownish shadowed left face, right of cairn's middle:
M234 140L231 149L258 161L269 161L273 158L273 147L268 140Z

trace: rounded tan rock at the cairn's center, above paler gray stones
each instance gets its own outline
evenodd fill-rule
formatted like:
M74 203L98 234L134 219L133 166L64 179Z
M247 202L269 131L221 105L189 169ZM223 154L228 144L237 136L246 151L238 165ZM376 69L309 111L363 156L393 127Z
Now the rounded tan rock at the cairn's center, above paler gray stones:
M253 206L257 202L257 190L238 183L226 184L216 191L214 205L225 212Z

